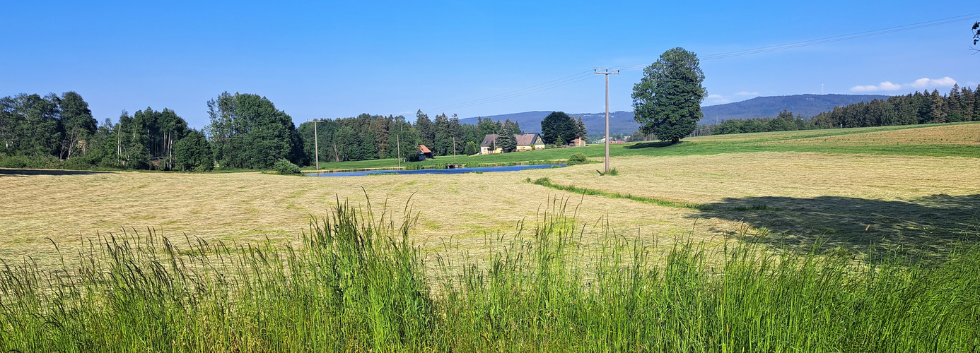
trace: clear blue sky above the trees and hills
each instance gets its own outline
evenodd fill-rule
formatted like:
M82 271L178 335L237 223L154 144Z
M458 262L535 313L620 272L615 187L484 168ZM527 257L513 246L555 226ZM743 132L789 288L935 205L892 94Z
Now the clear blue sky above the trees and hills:
M170 108L193 127L223 91L269 98L297 123L418 109L460 117L604 110L600 75L492 98L596 66L643 66L980 13L975 2L430 1L10 2L0 96L75 91L96 118ZM980 82L954 23L702 62L706 105L755 96L904 94ZM632 110L640 69L611 76ZM577 80L581 77L581 80ZM589 78L586 78L589 77ZM925 79L925 80L923 80ZM554 85L554 84L553 84ZM550 87L550 86L544 86ZM539 87L539 88L544 88ZM414 118L413 118L414 119Z

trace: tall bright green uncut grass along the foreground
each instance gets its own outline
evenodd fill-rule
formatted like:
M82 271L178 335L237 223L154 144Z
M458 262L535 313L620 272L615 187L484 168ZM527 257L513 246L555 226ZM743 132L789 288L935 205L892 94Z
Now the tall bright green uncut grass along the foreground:
M410 210L338 202L302 245L100 237L0 270L4 351L976 351L980 248L940 265L531 226L426 256ZM591 238L598 237L598 242ZM424 259L432 258L430 263Z

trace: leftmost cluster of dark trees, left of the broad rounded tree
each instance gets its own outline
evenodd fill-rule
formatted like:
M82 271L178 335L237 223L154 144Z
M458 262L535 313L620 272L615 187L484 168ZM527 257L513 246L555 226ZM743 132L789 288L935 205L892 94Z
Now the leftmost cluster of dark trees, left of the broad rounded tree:
M149 107L99 124L75 92L0 99L0 166L173 169L190 140L180 142L200 134L173 110Z

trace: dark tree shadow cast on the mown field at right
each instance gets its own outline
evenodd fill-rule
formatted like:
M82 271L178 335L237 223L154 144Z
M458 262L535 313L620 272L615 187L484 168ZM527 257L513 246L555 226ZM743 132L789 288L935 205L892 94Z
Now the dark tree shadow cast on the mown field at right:
M765 204L778 211L726 210ZM798 251L840 253L894 251L910 259L933 259L957 243L980 243L980 195L929 197L902 200L842 197L730 198L709 203L691 218L719 218L745 222L761 232L745 236L754 241L786 245ZM769 234L766 235L766 232ZM729 232L741 236L743 232Z

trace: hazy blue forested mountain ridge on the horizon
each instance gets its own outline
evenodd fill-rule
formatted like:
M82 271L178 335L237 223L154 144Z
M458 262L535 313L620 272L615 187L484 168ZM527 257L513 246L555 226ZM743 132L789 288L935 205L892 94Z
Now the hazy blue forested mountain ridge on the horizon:
M847 106L859 102L870 102L875 99L887 99L889 96L881 95L794 95L794 96L772 96L756 97L751 100L728 103L717 106L702 107L705 117L701 119L702 124L713 124L715 121L721 122L730 119L747 119L753 117L773 117L782 110L793 111L794 114L801 114L808 118L816 114L833 110L834 107ZM490 115L493 120L504 121L511 119L520 124L520 128L525 132L539 132L541 130L541 120L548 116L551 111L524 111L510 114ZM606 130L605 112L585 112L571 113L575 117L581 116L585 122L585 128L589 133L596 133ZM476 117L467 117L460 121L466 124L475 124ZM610 111L610 133L631 134L640 126L633 119L633 111Z

